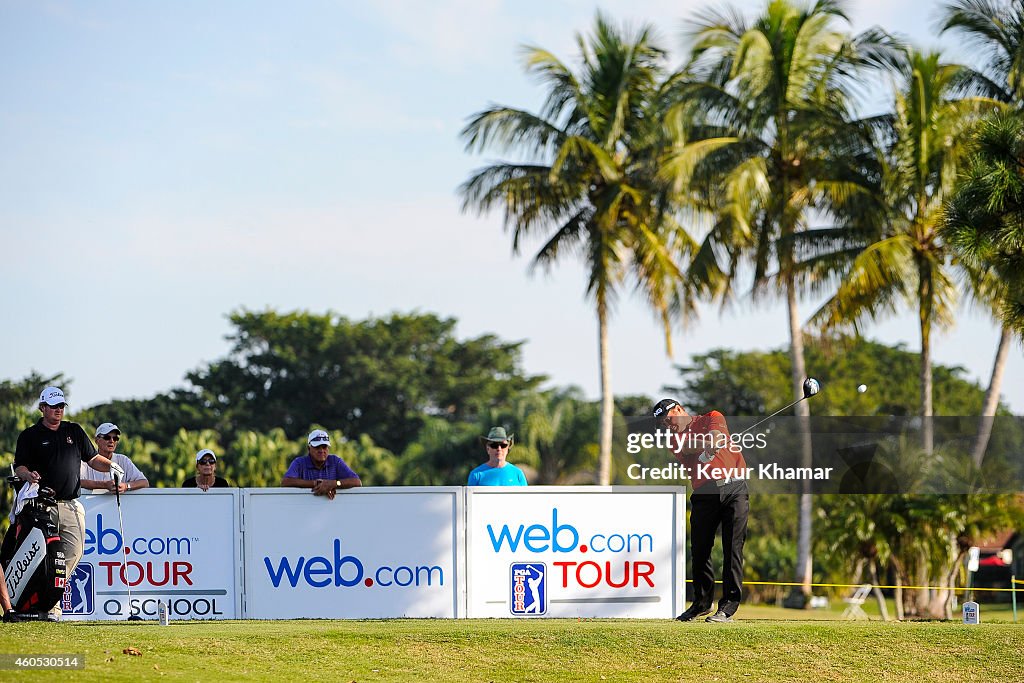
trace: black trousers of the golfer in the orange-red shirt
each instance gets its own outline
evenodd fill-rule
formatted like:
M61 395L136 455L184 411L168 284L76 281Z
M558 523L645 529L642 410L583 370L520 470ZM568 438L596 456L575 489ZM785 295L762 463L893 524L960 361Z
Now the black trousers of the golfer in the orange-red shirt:
M730 616L739 607L743 584L743 542L750 512L746 482L733 481L719 486L714 481L690 496L690 555L693 559L693 604L710 609L715 601L715 569L711 551L722 528L722 599L718 608Z

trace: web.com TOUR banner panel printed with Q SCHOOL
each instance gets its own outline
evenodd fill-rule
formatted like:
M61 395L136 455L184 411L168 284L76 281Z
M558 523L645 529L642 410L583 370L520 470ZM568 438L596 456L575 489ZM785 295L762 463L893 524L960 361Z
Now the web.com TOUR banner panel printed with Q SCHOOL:
M238 488L123 494L124 539L114 496L79 500L85 554L65 589L65 618L126 620L129 586L130 613L142 618L157 618L158 599L172 620L241 616Z

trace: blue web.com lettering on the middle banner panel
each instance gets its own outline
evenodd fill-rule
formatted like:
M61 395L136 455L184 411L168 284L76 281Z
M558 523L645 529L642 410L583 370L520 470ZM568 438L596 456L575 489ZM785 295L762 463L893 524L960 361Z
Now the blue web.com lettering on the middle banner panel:
M443 586L444 569L434 565L381 565L368 568L354 555L341 554L341 539L335 539L331 557L299 555L295 558L280 557L275 560L263 557L267 577L274 588L287 584L298 588L304 584L310 588L351 588L362 584L367 588L419 588L423 586Z

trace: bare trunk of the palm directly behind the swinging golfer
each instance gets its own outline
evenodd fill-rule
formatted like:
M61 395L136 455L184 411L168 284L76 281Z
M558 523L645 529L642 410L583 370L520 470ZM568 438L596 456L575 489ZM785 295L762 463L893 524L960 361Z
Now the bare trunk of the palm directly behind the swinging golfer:
M790 313L790 359L793 373L793 392L795 398L802 398L804 395L804 378L807 374L804 361L804 334L800 328L800 318L797 314L797 285L793 278L786 279L785 283L786 306ZM797 420L800 425L801 435L801 467L811 467L811 411L807 401L800 401L796 408ZM797 582L801 584L800 590L804 596L811 594L811 516L814 505L811 496L811 482L804 479L800 494L800 514L799 527L797 531Z

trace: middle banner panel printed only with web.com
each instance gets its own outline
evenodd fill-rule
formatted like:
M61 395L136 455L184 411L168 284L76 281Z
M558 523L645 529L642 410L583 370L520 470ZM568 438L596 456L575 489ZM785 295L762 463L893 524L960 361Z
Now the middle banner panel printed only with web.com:
M242 509L247 618L463 616L460 486L250 488Z

